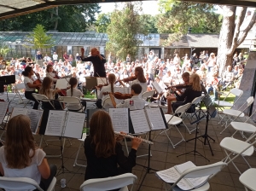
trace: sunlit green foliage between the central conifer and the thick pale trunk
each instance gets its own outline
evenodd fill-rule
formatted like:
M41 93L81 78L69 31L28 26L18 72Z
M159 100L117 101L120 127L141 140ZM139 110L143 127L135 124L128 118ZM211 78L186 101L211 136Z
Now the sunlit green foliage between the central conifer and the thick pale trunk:
M216 14L214 5L208 3L177 2L160 0L157 28L160 33L171 33L166 43L179 40L189 27L196 33L218 33L221 16Z

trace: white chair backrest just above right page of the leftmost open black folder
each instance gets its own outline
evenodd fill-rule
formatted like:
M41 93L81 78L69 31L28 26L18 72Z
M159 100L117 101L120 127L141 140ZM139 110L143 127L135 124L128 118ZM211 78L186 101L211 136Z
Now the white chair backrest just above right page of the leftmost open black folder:
M69 111L73 111L73 112L83 112L83 111L84 111L84 107L83 107L83 105L81 104L81 101L79 100L79 98L77 98L77 97L61 96L61 97L59 97L59 101L60 101L61 103L67 104L67 105L66 105L66 106L67 106L66 108L67 108L67 110L69 110ZM73 107L73 106L75 106L75 107L79 106L79 107L76 108L76 109L70 109L70 108L68 108L68 107ZM61 107L63 108L62 104L61 104ZM63 108L63 109L64 109L64 108Z

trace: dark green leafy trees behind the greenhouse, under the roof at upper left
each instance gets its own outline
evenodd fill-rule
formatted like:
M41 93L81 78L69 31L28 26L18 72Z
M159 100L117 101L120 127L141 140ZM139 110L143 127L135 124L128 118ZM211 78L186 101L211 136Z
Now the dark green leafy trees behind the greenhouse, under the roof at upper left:
M85 32L96 21L100 12L98 3L61 5L53 9L24 14L7 20L0 20L0 30L32 31L38 24L59 32Z

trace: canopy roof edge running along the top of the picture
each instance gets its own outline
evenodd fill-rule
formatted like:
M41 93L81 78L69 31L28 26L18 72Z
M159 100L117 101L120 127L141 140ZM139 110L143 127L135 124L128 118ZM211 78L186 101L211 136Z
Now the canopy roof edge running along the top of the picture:
M1 0L0 20L22 14L29 14L44 9L54 8L59 5L84 4L84 3L117 3L131 2L132 0ZM143 1L143 0L137 0ZM154 0L151 0L154 1ZM156 0L155 0L156 1ZM256 7L256 0L181 0L195 3L214 3Z

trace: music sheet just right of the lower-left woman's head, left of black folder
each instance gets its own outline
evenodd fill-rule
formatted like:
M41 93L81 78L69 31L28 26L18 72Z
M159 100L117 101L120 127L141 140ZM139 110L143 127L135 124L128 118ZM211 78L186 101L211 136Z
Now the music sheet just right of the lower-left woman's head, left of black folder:
M29 109L26 114L30 119L30 129L32 134L36 134L38 131L38 125L43 115L43 111Z

